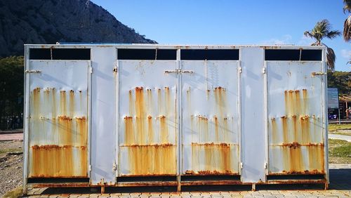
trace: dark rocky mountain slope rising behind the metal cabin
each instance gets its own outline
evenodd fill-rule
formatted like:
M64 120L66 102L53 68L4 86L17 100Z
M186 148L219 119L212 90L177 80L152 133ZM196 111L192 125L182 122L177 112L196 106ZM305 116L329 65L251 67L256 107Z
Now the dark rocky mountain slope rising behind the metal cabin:
M0 0L0 57L58 41L156 43L88 0Z

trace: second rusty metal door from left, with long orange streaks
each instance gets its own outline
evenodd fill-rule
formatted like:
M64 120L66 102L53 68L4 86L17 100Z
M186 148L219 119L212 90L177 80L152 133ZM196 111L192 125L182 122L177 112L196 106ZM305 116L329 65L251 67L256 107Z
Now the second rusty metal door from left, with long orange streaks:
M176 175L177 74L172 71L176 60L119 60L118 176Z

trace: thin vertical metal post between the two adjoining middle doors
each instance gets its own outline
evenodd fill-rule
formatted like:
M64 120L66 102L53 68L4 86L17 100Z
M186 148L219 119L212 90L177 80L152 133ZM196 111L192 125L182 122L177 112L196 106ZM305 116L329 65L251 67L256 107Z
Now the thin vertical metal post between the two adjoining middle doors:
M180 49L177 50L177 65L176 65L176 70L181 70L182 65L180 64ZM181 73L177 75L177 112L178 112L178 136L177 136L177 191L180 192L181 190L181 180L180 180L180 174L181 174L181 166L182 166L182 150L183 150L183 108L182 108L182 75Z

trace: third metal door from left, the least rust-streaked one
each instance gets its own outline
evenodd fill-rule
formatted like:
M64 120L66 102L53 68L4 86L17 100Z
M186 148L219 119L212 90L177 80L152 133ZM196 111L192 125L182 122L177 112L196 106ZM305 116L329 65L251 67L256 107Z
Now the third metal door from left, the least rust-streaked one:
M185 175L239 174L238 61L182 61Z

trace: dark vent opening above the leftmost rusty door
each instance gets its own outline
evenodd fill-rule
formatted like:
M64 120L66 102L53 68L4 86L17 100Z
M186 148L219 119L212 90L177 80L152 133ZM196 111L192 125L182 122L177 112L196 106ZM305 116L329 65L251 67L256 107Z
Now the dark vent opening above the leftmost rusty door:
M31 60L90 60L90 48L31 48Z

